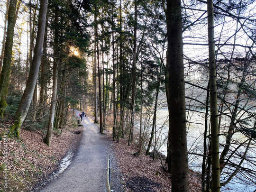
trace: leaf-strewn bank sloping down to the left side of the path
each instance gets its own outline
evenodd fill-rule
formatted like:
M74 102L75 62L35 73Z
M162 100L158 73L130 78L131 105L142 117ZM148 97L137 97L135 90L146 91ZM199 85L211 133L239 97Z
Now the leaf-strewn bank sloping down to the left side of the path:
M73 119L75 117L69 118ZM42 141L42 133L25 129L20 130L20 139L8 135L7 145L4 146L4 135L9 132L8 121L0 122L0 192L27 192L33 185L47 178L57 167L59 161L72 147L77 146L82 131L67 122L60 137L53 135L50 147ZM7 158L8 166L4 162ZM8 182L5 170L8 171ZM6 186L6 187L5 187Z

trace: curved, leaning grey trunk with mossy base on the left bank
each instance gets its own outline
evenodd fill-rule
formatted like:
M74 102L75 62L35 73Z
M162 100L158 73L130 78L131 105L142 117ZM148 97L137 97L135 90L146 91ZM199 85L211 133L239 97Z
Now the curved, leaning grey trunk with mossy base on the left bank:
M17 137L19 137L20 127L27 116L27 111L29 109L34 89L37 82L38 71L40 67L40 62L43 53L43 43L44 43L44 35L45 35L45 27L46 27L46 12L48 0L41 0L38 17L38 31L37 31L37 39L36 45L34 49L34 57L32 60L32 64L30 66L30 72L28 75L28 81L26 83L26 88L24 90L23 96L18 106L18 110L14 116L14 125L10 127L10 131L13 132Z

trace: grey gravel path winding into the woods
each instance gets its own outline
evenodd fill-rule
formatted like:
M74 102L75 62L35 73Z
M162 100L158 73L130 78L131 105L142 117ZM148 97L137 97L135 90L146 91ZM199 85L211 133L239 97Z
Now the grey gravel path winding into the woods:
M76 111L78 116L79 112ZM111 142L88 117L72 164L41 192L107 192L106 173Z

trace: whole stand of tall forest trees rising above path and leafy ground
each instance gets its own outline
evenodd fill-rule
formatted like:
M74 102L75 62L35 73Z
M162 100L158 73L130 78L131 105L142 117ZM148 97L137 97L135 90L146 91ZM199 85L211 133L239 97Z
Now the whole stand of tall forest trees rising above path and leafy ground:
M0 14L10 135L51 146L78 109L165 155L174 192L189 170L202 192L256 192L255 0L0 0Z

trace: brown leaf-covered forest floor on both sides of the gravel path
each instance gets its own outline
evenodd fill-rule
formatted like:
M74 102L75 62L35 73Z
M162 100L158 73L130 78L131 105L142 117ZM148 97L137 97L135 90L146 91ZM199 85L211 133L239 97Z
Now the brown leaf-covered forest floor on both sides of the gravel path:
M21 129L20 140L9 136L6 151L3 138L4 133L8 133L10 123L0 122L0 192L29 192L33 187L37 188L58 168L67 152L75 151L82 136L82 128L77 126L77 117L71 113L69 119L61 136L53 135L51 147L42 141L41 132ZM110 131L104 133L112 140ZM114 192L171 192L170 175L165 172L159 159L153 161L149 155L133 155L137 147L128 146L126 139L112 143L115 154L113 160L118 166L118 172L111 173ZM8 157L8 188L4 188L5 157ZM201 191L198 173L190 172L189 185L190 192Z

